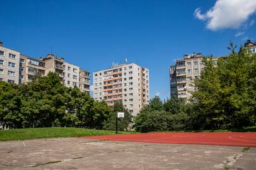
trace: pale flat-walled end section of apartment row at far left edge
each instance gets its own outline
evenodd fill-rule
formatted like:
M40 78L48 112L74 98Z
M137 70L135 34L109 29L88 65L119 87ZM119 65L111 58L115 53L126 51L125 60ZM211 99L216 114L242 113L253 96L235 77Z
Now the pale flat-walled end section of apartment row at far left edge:
M0 42L0 81L19 83L20 52L3 47Z

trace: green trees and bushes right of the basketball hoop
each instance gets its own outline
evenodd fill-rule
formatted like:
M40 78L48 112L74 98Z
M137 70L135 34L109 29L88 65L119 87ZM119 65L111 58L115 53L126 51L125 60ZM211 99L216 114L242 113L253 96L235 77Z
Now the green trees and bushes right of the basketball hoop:
M193 81L192 98L171 98L162 102L158 96L135 117L134 128L140 132L169 130L204 130L255 125L256 55L247 49L239 52L231 43L231 53L217 60L204 57L204 71Z

